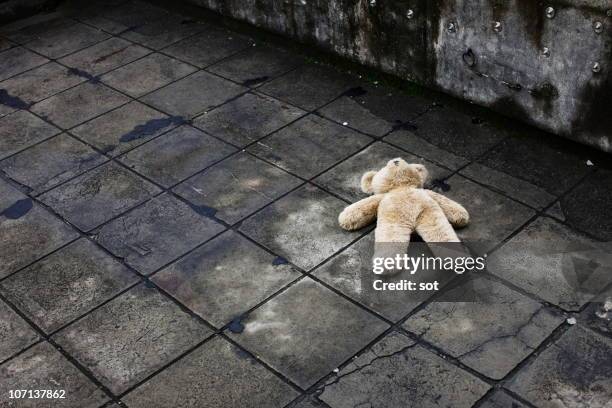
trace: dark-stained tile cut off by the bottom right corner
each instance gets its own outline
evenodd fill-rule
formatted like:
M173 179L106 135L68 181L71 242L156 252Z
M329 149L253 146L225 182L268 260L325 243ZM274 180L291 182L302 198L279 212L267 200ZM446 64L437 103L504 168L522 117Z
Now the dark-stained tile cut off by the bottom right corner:
M612 340L574 326L506 387L542 408L607 408Z

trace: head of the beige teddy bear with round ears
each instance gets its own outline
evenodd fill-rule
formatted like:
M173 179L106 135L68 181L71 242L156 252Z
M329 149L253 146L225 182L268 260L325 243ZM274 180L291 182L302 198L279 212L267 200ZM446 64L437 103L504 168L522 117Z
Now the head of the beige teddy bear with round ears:
M368 171L361 178L364 193L387 193L398 187L422 188L427 180L427 169L422 164L409 164L396 158L378 171Z

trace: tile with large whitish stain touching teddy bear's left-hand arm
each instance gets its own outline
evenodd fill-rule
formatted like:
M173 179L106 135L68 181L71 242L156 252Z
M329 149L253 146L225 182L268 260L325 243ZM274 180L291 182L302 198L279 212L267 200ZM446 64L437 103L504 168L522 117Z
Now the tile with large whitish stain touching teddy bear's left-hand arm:
M306 185L246 219L240 230L310 270L359 237L338 226L344 207L339 199Z

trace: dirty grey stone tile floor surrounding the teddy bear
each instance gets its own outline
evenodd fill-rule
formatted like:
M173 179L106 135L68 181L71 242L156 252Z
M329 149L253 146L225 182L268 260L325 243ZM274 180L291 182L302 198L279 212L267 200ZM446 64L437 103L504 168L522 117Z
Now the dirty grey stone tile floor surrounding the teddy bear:
M612 406L610 270L568 301L506 259L612 239L609 156L110 3L0 29L1 406ZM336 217L396 156L499 254L444 296L494 305L363 290L371 229Z

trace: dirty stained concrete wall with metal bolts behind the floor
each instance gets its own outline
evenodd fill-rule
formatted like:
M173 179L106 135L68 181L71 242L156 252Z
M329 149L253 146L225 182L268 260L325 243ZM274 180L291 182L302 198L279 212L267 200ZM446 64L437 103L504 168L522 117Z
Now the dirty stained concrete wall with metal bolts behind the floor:
M187 0L612 152L612 0Z

